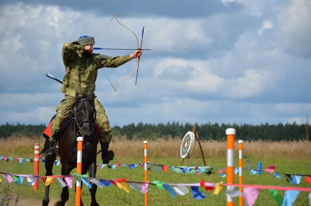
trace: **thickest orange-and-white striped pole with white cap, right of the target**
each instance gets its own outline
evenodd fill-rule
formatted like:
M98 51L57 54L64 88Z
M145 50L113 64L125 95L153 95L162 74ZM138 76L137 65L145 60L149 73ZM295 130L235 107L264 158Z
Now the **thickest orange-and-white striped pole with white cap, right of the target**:
M227 135L227 183L234 183L234 136L235 129L226 129ZM232 186L227 186L227 190L231 190ZM233 206L234 200L227 195L227 206Z

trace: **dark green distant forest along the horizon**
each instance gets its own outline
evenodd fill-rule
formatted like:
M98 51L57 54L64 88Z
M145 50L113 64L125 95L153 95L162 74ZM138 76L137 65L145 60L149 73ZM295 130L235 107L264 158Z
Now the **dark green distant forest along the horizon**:
M178 122L166 124L128 124L123 127L112 128L114 136L123 136L128 139L157 139L157 138L183 138L184 134L191 131L193 124L179 124ZM225 140L225 129L234 128L237 131L236 138L243 140L302 140L306 139L304 124L197 124L197 130L201 140ZM7 138L12 134L26 136L41 135L45 124L2 124L0 125L0 138Z

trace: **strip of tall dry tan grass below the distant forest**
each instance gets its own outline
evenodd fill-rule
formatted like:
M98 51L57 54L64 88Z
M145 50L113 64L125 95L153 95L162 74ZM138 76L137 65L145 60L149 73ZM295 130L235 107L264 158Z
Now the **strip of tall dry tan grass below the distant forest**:
M146 139L148 140L148 139ZM12 136L0 139L0 155L9 157L33 157L34 143L39 142L43 147L44 138ZM180 157L180 139L148 140L149 157ZM202 141L202 149L206 158L226 158L226 142ZM110 144L117 157L143 157L143 140L127 140L116 137ZM100 147L98 147L100 149ZM235 143L236 157L238 143ZM260 159L311 159L311 142L269 142L269 141L244 141L243 154L245 158ZM191 157L200 158L199 144L194 143Z

